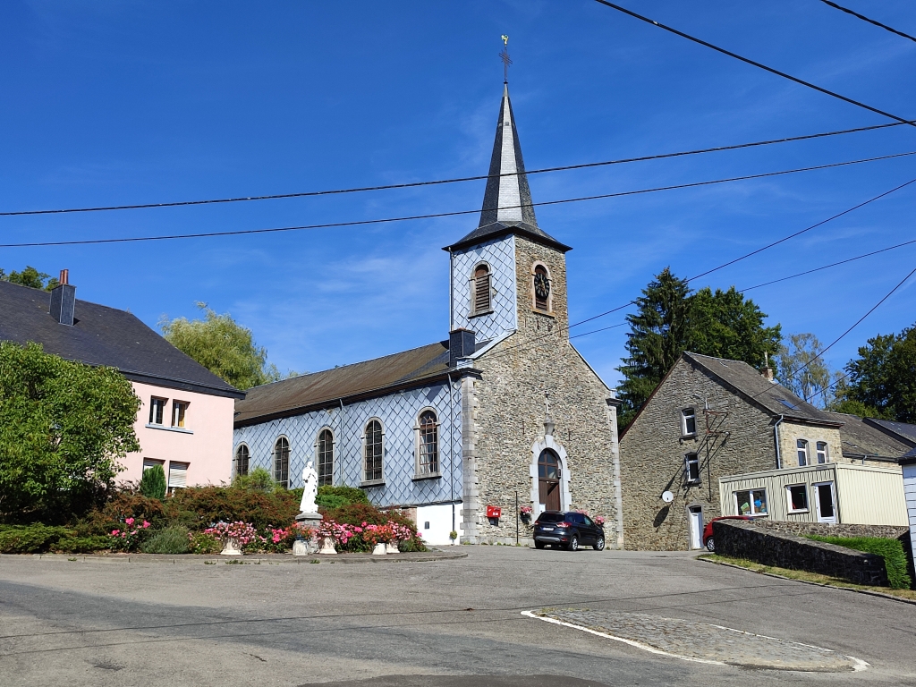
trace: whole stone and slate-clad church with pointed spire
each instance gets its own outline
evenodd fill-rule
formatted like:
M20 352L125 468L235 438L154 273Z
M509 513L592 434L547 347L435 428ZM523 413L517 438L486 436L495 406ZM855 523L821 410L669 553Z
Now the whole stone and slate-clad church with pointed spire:
M571 247L538 225L507 85L480 223L443 250L448 340L250 389L234 474L291 488L311 460L431 544L529 543L526 520L581 509L622 548L619 402L570 343Z

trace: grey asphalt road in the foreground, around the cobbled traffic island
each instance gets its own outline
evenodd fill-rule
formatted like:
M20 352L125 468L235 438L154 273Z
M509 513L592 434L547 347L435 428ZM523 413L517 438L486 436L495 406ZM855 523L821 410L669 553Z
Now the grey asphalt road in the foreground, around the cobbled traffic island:
M916 605L683 553L462 551L376 565L2 556L0 685L916 685ZM871 667L680 660L521 615L548 606L712 623Z

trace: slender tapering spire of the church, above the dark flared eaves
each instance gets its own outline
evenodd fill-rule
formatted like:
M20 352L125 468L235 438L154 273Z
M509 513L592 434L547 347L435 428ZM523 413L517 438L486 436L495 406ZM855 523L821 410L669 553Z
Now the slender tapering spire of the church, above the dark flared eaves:
M493 141L493 155L490 157L490 178L486 180L484 207L480 213L479 227L487 224L518 225L528 224L537 228L538 221L531 206L531 191L525 162L521 158L515 117L509 102L508 84L503 86L503 102L499 107L496 122L496 138ZM499 176L496 176L499 175Z

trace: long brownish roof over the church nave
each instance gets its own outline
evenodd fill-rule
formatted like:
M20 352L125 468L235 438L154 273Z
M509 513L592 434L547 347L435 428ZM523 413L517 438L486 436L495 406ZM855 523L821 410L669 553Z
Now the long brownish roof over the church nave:
M398 388L415 387L424 381L444 377L448 370L449 343L444 341L354 365L295 376L248 389L245 400L235 403L235 426L299 415L325 408L341 398L348 402L391 393Z

